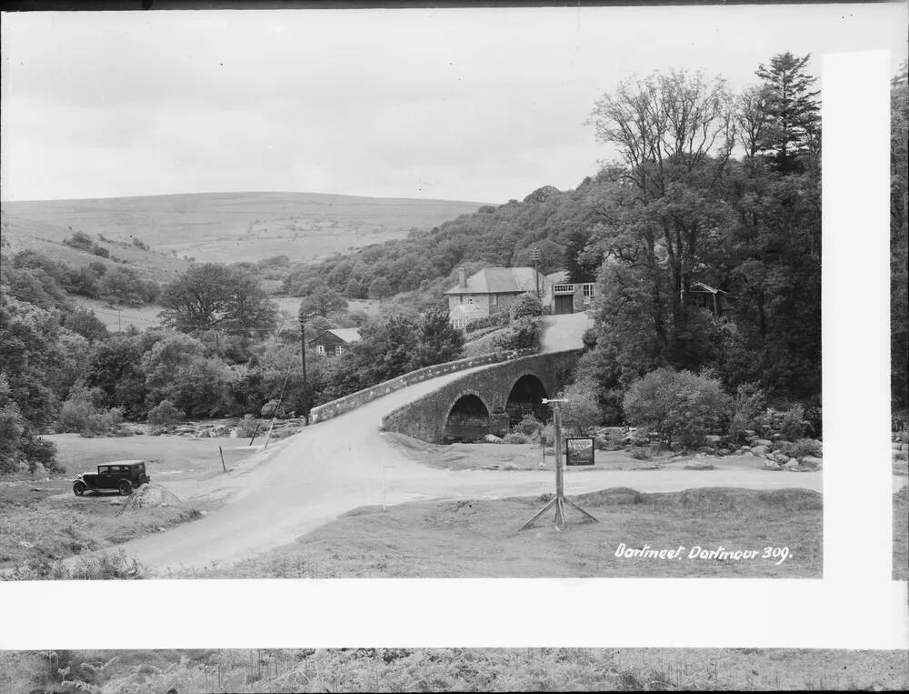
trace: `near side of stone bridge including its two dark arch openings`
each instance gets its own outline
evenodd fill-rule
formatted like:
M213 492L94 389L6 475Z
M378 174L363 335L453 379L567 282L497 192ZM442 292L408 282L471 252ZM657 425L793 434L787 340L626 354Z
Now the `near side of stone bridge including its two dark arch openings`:
M465 373L382 418L383 431L430 443L503 435L525 414L547 417L544 397L555 397L571 375L580 349L519 357Z

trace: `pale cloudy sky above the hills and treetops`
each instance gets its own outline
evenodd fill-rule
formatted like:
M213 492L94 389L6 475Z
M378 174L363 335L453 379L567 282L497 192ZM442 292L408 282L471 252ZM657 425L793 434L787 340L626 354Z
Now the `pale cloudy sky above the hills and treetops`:
M4 13L0 200L298 191L503 203L577 186L630 75L889 48L905 3ZM819 81L822 87L823 80Z

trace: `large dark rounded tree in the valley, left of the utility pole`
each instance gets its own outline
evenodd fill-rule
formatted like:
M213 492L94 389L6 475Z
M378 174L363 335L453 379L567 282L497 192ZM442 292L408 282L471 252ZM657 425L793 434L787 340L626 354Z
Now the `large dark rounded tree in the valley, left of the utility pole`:
M190 267L165 287L161 304L165 325L186 333L218 329L261 335L275 327L277 315L255 277L216 263Z

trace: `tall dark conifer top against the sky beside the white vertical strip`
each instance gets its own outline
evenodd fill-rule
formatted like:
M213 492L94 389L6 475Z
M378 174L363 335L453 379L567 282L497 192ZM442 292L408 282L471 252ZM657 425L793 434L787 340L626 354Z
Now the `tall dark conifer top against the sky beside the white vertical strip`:
M769 65L758 67L766 121L756 137L757 149L774 166L789 172L804 166L803 157L820 147L821 116L817 91L809 91L817 78L804 67L811 54L797 57L786 51L774 55Z

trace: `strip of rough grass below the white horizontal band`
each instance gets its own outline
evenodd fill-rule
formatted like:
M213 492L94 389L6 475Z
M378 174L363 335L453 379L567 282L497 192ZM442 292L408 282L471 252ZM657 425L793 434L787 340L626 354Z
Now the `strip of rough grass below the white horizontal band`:
M903 651L256 649L0 653L0 690L140 692L906 689Z

